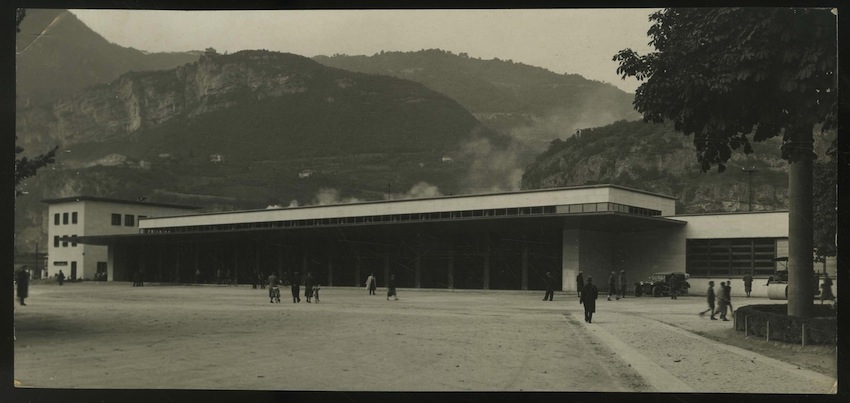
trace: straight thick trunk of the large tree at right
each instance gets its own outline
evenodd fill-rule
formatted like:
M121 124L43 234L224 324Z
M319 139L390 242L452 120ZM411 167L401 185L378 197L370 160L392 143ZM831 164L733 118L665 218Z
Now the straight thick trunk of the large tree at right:
M813 144L811 130L808 141ZM813 153L803 152L788 175L788 315L810 318L814 309L813 273Z

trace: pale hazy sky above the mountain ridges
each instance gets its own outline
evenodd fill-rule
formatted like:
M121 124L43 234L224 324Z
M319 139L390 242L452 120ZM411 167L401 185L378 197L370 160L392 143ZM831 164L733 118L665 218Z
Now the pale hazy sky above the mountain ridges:
M580 74L634 92L611 58L651 50L655 9L72 10L110 42L148 52L267 49L312 57L442 49Z

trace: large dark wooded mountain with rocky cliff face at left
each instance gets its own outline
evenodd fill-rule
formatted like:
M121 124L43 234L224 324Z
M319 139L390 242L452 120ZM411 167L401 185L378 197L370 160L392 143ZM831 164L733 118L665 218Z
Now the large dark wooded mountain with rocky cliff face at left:
M492 167L511 139L451 98L263 50L205 54L21 107L16 130L27 151L62 150L16 200L24 250L43 242L40 200L76 194L218 211L510 186Z

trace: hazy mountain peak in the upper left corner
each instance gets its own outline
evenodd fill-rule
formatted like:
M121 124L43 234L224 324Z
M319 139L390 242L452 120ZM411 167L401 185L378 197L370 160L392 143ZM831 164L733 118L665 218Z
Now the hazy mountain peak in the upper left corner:
M49 102L129 71L171 69L201 52L145 53L108 42L68 10L27 9L16 36L18 105Z

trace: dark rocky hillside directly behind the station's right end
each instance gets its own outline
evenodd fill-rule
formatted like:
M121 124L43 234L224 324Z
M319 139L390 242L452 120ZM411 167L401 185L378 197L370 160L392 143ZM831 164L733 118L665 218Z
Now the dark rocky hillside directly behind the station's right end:
M828 159L834 137L834 132L815 136L821 159ZM674 196L678 213L747 211L752 175L754 211L787 209L788 163L780 156L781 138L752 146L752 154L733 153L725 172L701 172L692 139L672 124L619 121L553 141L526 168L521 186L611 183Z

